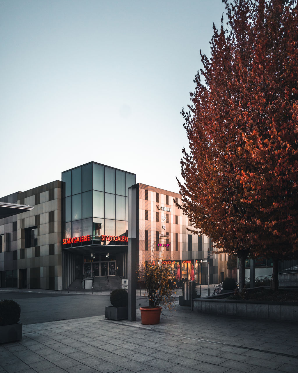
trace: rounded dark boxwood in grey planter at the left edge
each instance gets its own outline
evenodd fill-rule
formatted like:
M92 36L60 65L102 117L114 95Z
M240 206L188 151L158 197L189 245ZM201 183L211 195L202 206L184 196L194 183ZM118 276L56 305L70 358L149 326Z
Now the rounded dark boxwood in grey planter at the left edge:
M0 301L0 343L22 339L23 324L19 323L21 308L13 300Z

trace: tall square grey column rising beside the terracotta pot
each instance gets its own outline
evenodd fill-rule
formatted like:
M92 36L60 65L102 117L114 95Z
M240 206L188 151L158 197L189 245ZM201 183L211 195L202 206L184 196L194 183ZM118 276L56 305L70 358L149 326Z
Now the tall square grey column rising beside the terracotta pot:
M128 314L129 321L136 321L136 241L137 241L137 194L136 186L128 189Z

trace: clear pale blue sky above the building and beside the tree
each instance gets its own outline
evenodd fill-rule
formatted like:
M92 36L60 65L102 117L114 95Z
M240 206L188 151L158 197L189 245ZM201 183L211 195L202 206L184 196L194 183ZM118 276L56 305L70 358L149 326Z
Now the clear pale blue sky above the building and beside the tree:
M179 192L221 0L0 0L0 197L95 161Z

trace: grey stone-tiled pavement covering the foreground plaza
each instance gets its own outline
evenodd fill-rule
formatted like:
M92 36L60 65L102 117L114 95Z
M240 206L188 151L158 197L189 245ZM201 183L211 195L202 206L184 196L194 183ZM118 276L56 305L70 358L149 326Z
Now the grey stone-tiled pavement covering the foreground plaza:
M104 316L23 326L0 345L0 372L298 372L298 324L197 314L178 306L159 325Z

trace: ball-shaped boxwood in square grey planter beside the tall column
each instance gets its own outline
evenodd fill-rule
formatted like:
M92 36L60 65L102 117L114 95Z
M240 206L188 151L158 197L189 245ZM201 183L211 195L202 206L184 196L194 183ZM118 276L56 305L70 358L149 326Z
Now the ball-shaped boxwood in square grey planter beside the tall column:
M105 317L109 320L127 319L127 291L115 289L110 295L111 306L105 307Z

